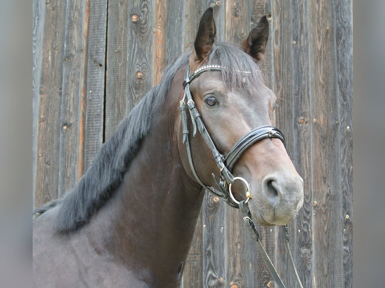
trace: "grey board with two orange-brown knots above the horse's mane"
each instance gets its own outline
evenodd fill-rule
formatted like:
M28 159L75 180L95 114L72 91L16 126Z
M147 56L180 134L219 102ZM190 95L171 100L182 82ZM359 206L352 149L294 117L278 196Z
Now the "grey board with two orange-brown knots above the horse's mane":
M129 2L127 112L152 87L153 8L149 0Z

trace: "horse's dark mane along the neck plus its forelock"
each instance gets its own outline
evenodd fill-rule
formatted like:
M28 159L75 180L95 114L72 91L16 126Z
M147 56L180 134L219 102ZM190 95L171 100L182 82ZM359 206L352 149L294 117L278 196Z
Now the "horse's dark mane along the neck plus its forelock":
M59 205L55 223L57 231L76 230L111 198L121 184L129 163L137 154L141 140L151 128L154 109L163 102L176 71L188 63L189 54L180 56L164 70L162 81L122 120L116 133L104 143L77 185L62 200L36 210L44 213L56 204ZM255 61L231 44L214 45L208 61L226 68L222 74L229 88L242 86L246 90L255 91L256 85L261 83ZM243 71L248 72L239 73Z

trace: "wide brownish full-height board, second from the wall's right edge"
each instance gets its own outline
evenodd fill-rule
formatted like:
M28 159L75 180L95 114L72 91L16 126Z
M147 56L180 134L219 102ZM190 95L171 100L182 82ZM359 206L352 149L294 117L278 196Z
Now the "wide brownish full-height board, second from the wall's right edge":
M343 287L334 2L309 2L315 286Z

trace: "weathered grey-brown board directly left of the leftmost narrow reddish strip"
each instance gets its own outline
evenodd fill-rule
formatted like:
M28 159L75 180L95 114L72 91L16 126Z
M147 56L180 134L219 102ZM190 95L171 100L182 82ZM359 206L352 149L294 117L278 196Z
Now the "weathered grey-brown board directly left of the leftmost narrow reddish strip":
M78 136L83 58L84 3L69 2L65 16L58 197L77 181Z

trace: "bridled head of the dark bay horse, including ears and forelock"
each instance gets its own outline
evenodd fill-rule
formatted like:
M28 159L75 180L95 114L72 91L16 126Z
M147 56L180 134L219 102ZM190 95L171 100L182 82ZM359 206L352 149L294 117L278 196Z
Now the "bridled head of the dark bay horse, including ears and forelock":
M304 190L283 135L272 126L276 96L263 84L257 63L265 51L268 30L268 21L262 17L240 48L216 45L213 10L205 12L189 56L182 101L189 105L192 119L183 127L191 159L185 152L181 155L191 179L207 188L230 188L235 203L251 198L251 214L262 225L285 225L302 207ZM187 135L187 130L197 129L194 126L206 131L201 131L203 137ZM179 149L185 151L181 142ZM226 158L229 153L236 155L231 165Z

